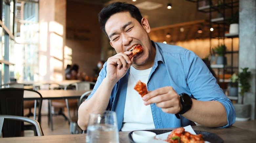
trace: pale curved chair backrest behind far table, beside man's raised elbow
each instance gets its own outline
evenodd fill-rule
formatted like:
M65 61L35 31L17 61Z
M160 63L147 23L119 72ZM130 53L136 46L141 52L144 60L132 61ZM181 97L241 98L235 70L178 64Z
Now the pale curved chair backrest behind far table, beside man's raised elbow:
M93 89L95 82L81 81L77 83L72 83L64 88L64 90L69 89L69 87L75 86L76 90L90 90Z

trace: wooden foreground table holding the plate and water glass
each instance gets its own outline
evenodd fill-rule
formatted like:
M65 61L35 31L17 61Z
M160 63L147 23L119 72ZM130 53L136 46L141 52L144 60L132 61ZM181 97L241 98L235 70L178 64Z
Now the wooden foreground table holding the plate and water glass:
M192 126L195 131L205 131L219 135L224 143L255 143L256 133L241 129L235 126L229 128L208 128L204 126ZM169 128L170 130L174 128ZM166 130L166 129L165 129ZM127 132L119 132L119 142L129 143ZM76 135L46 135L46 136L30 136L30 137L10 137L10 138L0 138L0 142L8 143L85 143L86 134L76 134Z

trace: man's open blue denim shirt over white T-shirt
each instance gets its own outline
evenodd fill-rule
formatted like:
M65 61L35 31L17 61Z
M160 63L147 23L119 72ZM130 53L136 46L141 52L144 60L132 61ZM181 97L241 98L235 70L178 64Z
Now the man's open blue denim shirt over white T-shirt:
M152 43L156 47L156 57L149 74L147 89L152 91L160 87L172 86L178 94L186 93L196 100L219 101L224 105L227 115L228 124L224 127L231 126L235 122L234 107L201 58L192 51L179 46L153 41ZM108 106L108 109L117 113L119 130L124 115L128 75L129 71L113 88ZM100 71L96 85L88 99L93 96L105 77L106 63ZM181 119L177 119L174 114L163 112L155 103L150 106L156 129L183 127L191 124L191 121L183 116Z

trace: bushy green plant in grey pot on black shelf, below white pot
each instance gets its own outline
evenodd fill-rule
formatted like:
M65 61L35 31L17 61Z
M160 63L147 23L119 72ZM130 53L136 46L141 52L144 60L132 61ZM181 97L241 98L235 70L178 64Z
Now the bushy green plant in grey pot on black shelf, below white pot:
M216 64L226 64L226 57L224 54L228 51L225 44L218 45L214 47L215 53L218 54L216 58Z

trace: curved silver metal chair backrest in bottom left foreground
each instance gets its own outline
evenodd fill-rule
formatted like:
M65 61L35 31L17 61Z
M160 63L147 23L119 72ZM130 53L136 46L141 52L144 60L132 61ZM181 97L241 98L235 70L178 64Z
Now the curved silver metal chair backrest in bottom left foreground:
M44 135L43 130L38 121L28 117L13 116L13 115L0 115L0 134L1 134L4 122L8 122L10 120L17 120L17 121L24 121L24 122L31 123L32 125L35 126L38 136Z

